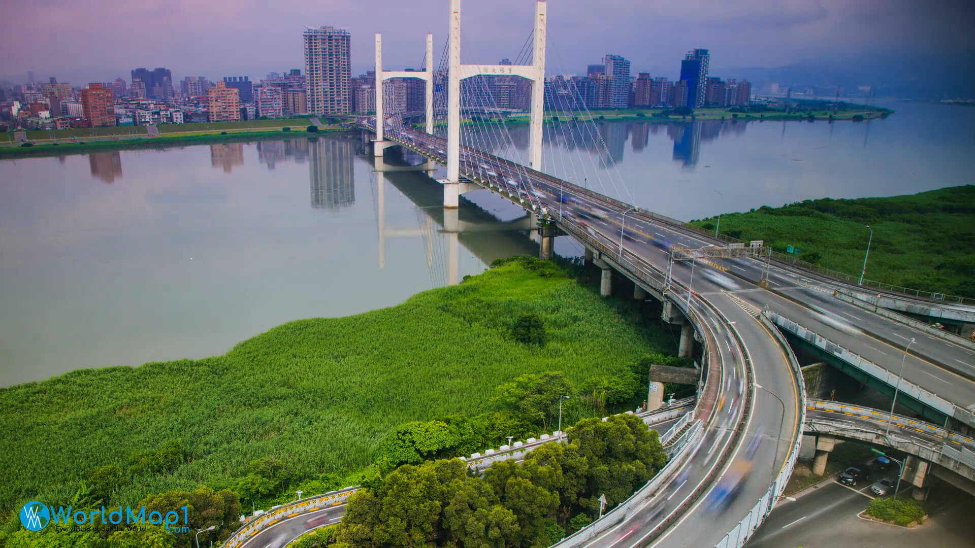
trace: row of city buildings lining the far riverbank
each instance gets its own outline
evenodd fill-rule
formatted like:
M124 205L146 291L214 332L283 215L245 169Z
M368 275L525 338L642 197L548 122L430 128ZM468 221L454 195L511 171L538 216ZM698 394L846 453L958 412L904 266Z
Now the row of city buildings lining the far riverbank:
M301 114L367 113L375 110L375 73L351 76L351 34L332 26L302 33L304 73L292 68L271 72L259 82L249 76L210 81L186 76L174 83L172 71L157 67L133 69L130 80L72 87L50 78L0 89L0 117L14 127L66 129L95 126L226 122L279 118ZM752 86L747 80L722 80L709 74L708 50L695 49L681 61L680 78L632 75L630 61L606 55L590 64L585 76L556 75L545 79L545 107L550 110L747 105ZM500 65L510 65L501 59ZM419 70L407 68L407 71ZM446 71L435 72L434 85L446 91ZM425 110L425 82L395 78L382 85L389 112ZM497 111L526 111L531 83L517 76L479 75L461 82L461 103ZM10 124L8 124L10 125Z

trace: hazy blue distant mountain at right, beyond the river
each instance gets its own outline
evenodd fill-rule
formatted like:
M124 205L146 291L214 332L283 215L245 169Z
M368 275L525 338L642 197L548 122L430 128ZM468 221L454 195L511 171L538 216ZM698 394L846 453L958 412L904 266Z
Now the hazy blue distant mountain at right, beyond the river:
M808 59L776 68L713 69L728 78L747 78L759 91L778 84L785 92L792 88L814 88L822 96L863 96L860 86L872 86L877 97L972 98L975 96L975 53L945 55L858 55L844 58Z

